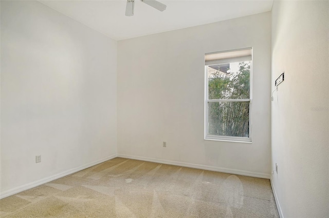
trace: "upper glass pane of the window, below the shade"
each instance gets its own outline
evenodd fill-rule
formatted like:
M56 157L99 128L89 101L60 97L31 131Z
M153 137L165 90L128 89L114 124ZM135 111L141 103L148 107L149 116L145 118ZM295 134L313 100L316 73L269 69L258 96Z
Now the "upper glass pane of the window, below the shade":
M249 99L250 61L208 66L209 99Z

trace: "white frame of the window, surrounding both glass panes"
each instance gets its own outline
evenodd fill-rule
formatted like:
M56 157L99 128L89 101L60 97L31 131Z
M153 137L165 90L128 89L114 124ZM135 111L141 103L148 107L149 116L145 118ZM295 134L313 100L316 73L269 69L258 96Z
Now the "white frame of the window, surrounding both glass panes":
M244 48L244 49L236 49L230 51L223 51L223 52L215 52L215 53L224 53L224 52L231 52L231 51L239 51L239 50L247 50L252 48ZM210 53L208 53L210 54ZM206 54L207 55L207 54ZM233 60L227 63L234 63L236 61ZM221 63L223 64L223 63ZM208 97L208 66L214 65L212 64L205 64L205 140L214 140L214 141L226 141L226 142L240 142L240 143L252 143L252 54L251 54L251 61L250 61L250 77L249 77L249 97L247 99L221 99L221 100L209 100ZM237 137L237 136L224 136L224 135L208 135L208 104L210 102L249 102L249 137Z

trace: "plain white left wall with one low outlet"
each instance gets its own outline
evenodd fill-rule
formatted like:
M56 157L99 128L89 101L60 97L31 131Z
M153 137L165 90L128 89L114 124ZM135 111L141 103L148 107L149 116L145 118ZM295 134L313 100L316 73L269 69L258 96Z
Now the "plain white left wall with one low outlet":
M1 1L2 197L116 154L116 55L39 2Z

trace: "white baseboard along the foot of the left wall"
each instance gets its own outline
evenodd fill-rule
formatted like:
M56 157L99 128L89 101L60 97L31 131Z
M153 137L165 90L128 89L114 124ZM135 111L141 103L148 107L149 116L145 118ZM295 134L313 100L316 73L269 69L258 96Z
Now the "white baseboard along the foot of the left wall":
M95 161L93 163L85 164L85 165L82 165L82 166L79 166L79 167L76 167L76 168L73 168L73 169L70 169L70 170L66 170L64 172L60 172L60 173L55 174L55 175L48 176L48 177L43 178L41 180L37 180L37 181L31 182L31 183L28 183L28 184L25 184L25 185L22 185L22 186L13 188L13 189L9 189L7 191L4 191L4 192L1 192L0 193L0 199L3 199L4 197L8 197L10 195L19 193L21 191L25 191L25 190L30 189L30 188L33 188L35 186L39 186L39 185L48 183L48 182L53 181L53 180L57 180L57 179L59 179L59 178L61 178L63 176L66 176L66 175L69 175L69 174L78 172L80 170L84 170L84 169L89 168L89 167L92 167L92 166L95 166L95 165L100 164L102 162L111 160L111 159L113 159L115 157L117 157L117 155L116 154L113 154L111 156L102 158L99 161Z

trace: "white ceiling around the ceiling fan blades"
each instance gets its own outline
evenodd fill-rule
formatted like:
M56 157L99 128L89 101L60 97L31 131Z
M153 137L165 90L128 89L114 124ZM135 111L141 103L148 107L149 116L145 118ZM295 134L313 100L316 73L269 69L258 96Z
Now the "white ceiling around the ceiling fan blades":
M159 0L160 12L135 0L134 16L125 16L126 0L40 1L115 40L224 21L270 11L273 0Z

